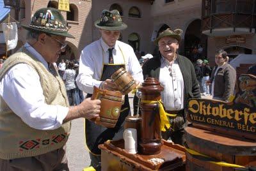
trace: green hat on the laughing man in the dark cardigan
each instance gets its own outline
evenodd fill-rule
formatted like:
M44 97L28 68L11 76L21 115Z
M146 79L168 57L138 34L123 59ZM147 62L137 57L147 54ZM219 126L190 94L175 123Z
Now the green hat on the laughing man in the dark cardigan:
M159 34L156 40L154 40L154 43L155 45L158 45L158 41L165 36L175 38L180 42L182 33L182 29L175 29L174 31L172 31L170 28L168 28Z

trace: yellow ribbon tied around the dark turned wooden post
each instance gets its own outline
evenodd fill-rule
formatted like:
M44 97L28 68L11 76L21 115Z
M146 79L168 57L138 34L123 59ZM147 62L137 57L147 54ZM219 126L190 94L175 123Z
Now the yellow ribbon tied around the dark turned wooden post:
M159 114L160 114L160 129L161 131L166 131L166 128L170 128L170 121L167 116L176 117L177 114L168 114L164 111L163 102L161 100L150 101L150 100L141 100L141 103L158 103L159 105Z

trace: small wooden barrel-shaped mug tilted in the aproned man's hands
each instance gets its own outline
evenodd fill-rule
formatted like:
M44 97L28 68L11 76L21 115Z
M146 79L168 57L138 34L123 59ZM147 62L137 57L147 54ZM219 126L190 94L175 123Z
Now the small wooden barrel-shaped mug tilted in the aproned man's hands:
M132 76L125 71L124 68L120 68L113 75L111 75L111 79L118 85L119 91L124 94L130 93L133 89L136 88L136 82L132 78Z

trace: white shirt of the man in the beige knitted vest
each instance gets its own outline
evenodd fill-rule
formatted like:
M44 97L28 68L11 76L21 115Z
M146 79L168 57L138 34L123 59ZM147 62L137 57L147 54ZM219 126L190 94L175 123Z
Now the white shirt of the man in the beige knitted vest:
M35 48L28 43L24 47L48 68ZM45 103L40 77L28 64L16 64L6 72L0 82L0 95L24 123L38 130L59 128L68 113L68 107Z

